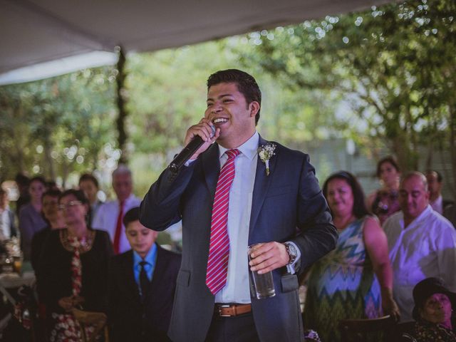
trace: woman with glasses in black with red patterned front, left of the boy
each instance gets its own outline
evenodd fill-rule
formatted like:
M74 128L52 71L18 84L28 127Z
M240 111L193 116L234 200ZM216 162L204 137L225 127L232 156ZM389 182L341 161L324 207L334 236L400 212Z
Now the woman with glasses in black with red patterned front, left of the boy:
M73 309L105 311L108 261L113 247L107 232L86 224L88 199L66 190L58 199L66 229L51 231L39 261L40 296L50 323L49 341L81 341ZM88 336L92 326L86 326Z

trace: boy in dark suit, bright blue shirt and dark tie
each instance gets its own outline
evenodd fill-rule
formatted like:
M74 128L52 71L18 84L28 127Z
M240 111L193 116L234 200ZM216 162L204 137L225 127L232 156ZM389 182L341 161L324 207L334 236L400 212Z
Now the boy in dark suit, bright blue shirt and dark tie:
M138 219L138 207L125 214L132 249L113 257L110 264L110 340L170 341L167 330L181 257L155 244L158 233Z

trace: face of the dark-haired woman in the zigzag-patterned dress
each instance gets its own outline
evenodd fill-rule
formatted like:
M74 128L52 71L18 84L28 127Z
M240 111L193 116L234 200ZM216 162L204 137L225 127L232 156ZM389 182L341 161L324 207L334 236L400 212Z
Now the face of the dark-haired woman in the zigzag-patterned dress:
M353 191L346 180L341 178L330 180L326 199L334 216L348 217L353 214Z

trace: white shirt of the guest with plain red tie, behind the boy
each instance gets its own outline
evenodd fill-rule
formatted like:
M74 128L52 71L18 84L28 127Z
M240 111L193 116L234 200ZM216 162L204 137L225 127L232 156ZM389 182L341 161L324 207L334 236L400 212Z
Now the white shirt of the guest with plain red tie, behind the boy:
M125 204L123 204L123 215L128 212L128 210L139 207L141 200L135 195L130 195L125 199ZM119 216L119 200L105 202L100 205L95 217L93 217L92 228L105 230L109 233L111 242L114 242L115 228L117 227L117 218ZM130 244L128 243L127 236L125 235L125 226L122 223L122 231L120 232L120 243L119 243L119 253L123 253L131 249Z

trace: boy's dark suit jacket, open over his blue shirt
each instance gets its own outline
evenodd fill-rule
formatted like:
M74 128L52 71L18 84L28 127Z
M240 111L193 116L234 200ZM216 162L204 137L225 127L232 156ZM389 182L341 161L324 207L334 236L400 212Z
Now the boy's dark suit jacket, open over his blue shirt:
M152 281L142 303L133 273L133 250L113 257L108 291L110 341L170 341L167 330L180 261L180 254L157 244Z

